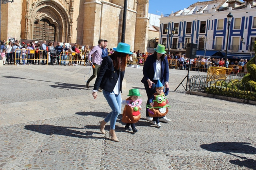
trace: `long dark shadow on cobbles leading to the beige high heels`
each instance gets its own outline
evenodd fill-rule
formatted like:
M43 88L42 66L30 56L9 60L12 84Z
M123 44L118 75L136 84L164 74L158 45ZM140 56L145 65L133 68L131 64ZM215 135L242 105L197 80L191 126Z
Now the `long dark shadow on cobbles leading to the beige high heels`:
M104 137L92 136L94 133L101 134L98 132L86 131L84 133L84 132L72 130L72 129L86 129L86 127L65 127L65 126L54 126L54 125L25 125L24 129L35 131L45 135L64 135L64 136L79 137L79 138L104 139Z

